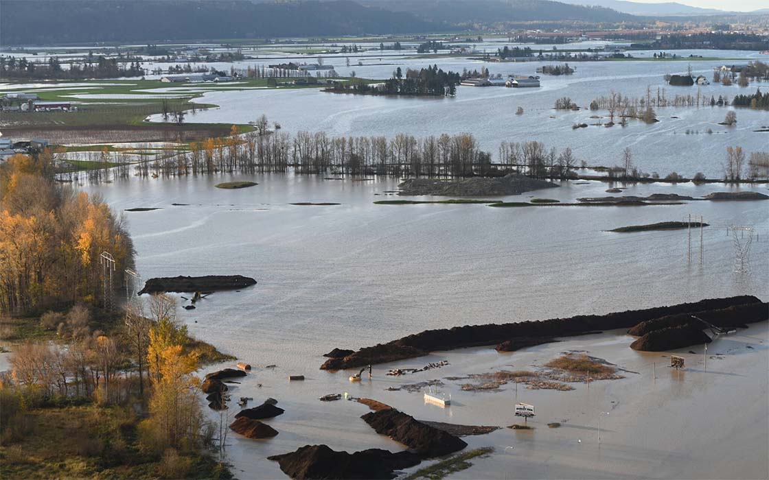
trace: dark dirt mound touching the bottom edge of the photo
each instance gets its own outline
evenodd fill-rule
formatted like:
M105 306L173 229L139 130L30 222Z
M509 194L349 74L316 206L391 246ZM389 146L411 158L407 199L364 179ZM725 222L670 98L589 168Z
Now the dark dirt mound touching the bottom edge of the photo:
M413 467L421 462L411 452L392 453L381 449L361 452L336 452L327 445L305 445L295 452L272 455L283 473L291 478L394 478L394 470Z

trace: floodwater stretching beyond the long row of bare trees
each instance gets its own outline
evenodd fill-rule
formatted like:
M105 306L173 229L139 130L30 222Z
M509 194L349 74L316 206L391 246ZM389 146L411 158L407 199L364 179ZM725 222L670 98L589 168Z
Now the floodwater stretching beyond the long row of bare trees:
M708 55L707 51L692 51ZM684 55L686 52L678 52ZM738 53L738 52L736 52ZM747 58L743 62L747 63ZM327 64L333 65L331 60ZM365 65L338 68L340 74L355 71L361 78L388 78L395 68L421 68L429 65L425 59L388 58L365 61ZM462 71L486 67L491 74L536 74L536 68L553 62L489 63L462 58L435 61L440 68ZM501 141L541 141L548 147L562 150L571 147L578 159L590 165L613 166L621 163L622 151L630 147L634 163L648 174L662 177L676 171L691 177L701 171L707 177L724 174L724 158L728 146L743 147L748 154L766 151L769 146L769 114L748 108L737 109L737 125L719 125L731 107L711 107L711 97L753 94L765 84L749 88L721 84L701 87L671 87L664 74L684 73L691 63L693 73L711 78L713 68L735 61L594 61L575 62L577 71L568 76L541 75L541 88L475 88L461 86L455 98L385 98L353 94L333 94L320 89L215 91L203 95L200 101L217 104L220 108L198 111L188 121L247 123L261 114L281 124L284 131L325 131L333 136L370 136L412 134L458 134L470 132L482 148L497 156ZM737 61L736 63L739 63ZM382 65L379 65L382 64ZM343 64L344 65L344 64ZM668 100L676 94L697 92L707 99L707 106L656 108L655 124L628 121L626 127L604 127L608 111L590 111L590 102L611 91L630 98L644 98L647 88L651 97L664 95ZM561 97L569 97L582 109L556 111L553 106ZM524 114L516 115L518 107ZM593 118L598 116L600 118ZM159 116L154 121L161 121ZM574 124L586 128L572 128ZM601 124L601 125L598 125ZM687 133L688 132L688 133Z

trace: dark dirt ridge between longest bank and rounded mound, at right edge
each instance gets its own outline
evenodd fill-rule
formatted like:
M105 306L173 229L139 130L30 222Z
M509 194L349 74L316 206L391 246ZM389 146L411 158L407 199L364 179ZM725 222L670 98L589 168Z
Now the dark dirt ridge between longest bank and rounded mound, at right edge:
M684 325L703 329L706 324L695 319L694 316L715 326L746 326L747 323L761 322L769 319L769 303L746 303L745 305L730 306L729 308L719 310L703 310L701 312L662 316L638 323L638 325L628 330L628 334L644 336L654 330Z

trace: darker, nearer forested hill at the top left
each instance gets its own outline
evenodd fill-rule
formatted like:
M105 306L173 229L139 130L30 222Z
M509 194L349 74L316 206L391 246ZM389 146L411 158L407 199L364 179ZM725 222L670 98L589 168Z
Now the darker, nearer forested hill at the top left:
M0 45L430 32L408 12L328 2L0 0Z

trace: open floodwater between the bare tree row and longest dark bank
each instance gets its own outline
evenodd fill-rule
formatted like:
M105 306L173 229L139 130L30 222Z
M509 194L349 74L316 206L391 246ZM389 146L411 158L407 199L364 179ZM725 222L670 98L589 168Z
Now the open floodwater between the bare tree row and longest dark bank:
M214 187L225 180L258 186ZM131 179L88 190L117 210L162 207L126 213L143 278L239 273L258 280L240 293L216 293L182 317L228 352L255 363L279 357L287 368L305 370L308 356L335 346L357 348L428 328L766 293L769 202L522 209L372 203L392 198L384 192L395 187L394 180L232 175ZM569 201L606 195L607 187L564 184L508 200ZM625 192L721 190L651 184ZM341 205L288 205L302 201ZM702 265L698 231L691 263L686 230L604 232L688 214L712 225L703 232ZM733 224L759 232L746 276L732 273Z

